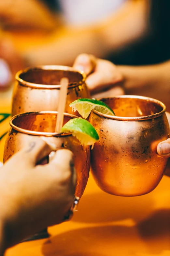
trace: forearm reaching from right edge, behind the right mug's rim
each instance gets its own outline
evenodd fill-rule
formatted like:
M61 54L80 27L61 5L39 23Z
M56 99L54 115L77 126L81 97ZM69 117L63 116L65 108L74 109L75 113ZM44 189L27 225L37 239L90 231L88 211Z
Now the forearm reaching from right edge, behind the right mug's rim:
M142 95L162 101L170 111L170 61L141 67L118 66L125 94Z

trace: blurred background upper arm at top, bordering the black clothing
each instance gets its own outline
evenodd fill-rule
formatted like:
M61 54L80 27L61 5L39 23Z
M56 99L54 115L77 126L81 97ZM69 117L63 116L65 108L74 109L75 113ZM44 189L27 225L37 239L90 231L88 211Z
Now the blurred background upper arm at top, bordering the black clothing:
M100 28L103 45L113 52L148 35L149 0L127 0Z

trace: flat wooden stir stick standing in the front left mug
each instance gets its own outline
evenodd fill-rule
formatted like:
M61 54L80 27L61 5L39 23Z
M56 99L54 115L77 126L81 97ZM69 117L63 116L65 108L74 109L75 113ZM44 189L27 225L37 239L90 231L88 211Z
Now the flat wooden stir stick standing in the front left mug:
M64 110L66 104L66 97L67 97L67 87L68 87L68 78L63 77L60 80L60 98L59 98L59 105L58 105L58 114L55 126L55 132L61 132L63 127L63 120L64 120Z

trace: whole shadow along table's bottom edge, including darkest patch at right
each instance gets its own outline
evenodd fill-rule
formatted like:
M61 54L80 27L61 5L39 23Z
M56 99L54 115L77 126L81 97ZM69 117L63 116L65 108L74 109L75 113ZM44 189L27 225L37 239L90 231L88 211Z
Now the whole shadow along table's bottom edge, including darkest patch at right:
M170 249L169 224L170 210L161 210L133 227L71 230L47 240L42 253L44 256L158 255Z

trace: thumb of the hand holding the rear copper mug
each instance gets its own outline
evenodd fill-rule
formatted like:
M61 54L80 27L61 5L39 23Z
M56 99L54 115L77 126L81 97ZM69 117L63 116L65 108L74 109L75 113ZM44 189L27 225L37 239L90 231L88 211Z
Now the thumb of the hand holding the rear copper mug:
M96 58L93 55L80 54L76 58L73 68L76 70L84 71L86 75L94 71L96 66Z

